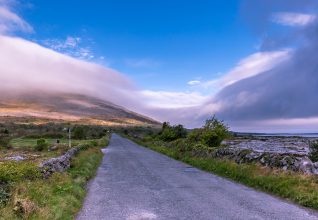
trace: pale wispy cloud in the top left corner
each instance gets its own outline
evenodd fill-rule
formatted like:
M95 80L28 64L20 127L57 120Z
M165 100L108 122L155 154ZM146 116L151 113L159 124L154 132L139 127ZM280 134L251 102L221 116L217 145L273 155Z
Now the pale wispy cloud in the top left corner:
M7 1L0 2L0 34L8 34L16 30L23 32L33 32L33 28L17 14L12 13Z

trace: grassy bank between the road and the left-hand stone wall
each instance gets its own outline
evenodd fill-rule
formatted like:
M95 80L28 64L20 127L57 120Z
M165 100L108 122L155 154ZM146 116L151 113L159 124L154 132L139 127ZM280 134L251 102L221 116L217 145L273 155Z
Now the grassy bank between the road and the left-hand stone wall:
M80 151L65 173L54 173L49 179L9 182L5 191L11 196L0 205L0 219L73 219L86 196L85 184L94 177L103 158L100 149L108 145L109 138L107 135L97 146Z

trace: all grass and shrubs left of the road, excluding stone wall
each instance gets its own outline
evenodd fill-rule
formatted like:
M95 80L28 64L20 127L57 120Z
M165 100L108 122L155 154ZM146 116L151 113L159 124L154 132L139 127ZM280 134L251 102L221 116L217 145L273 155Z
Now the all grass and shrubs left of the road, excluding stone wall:
M6 129L9 136L4 133L0 135L10 138L9 147L0 146L0 219L73 219L86 196L85 185L94 177L103 158L100 149L107 147L110 133L101 128L99 131L94 130L97 134L95 140L73 141L72 146L85 143L88 147L71 160L69 170L43 179L38 164L65 153L69 148L68 140L59 139L59 144L52 143L53 139L45 139L41 132L33 132L38 135L35 138L24 139L22 136L13 139L10 129ZM98 139L100 132L103 132L102 137ZM87 135L85 128L84 135ZM76 137L76 132L73 137ZM4 161L3 154L19 154L28 159L20 162ZM32 157L33 154L38 157Z

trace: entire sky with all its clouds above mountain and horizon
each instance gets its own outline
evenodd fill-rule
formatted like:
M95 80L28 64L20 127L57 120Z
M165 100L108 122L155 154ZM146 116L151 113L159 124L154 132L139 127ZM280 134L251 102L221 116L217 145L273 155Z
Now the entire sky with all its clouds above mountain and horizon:
M159 121L318 131L315 0L0 0L0 90L92 95ZM2 95L5 93L2 93Z

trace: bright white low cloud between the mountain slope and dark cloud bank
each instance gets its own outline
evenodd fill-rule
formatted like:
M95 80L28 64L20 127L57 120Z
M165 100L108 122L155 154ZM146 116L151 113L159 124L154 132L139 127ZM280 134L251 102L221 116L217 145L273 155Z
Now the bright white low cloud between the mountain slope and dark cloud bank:
M203 104L207 99L206 96L201 95L199 92L155 92L144 90L140 92L140 96L151 106L160 108L182 108L197 106Z

